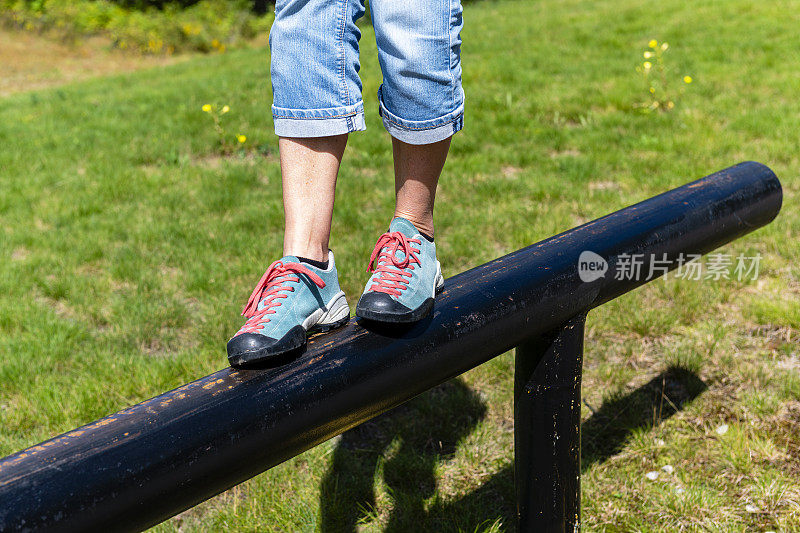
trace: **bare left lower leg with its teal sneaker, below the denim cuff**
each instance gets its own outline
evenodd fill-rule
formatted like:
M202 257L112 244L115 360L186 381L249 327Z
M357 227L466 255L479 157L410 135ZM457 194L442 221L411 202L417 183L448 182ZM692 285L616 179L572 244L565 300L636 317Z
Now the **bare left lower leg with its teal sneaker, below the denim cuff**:
M347 134L278 141L283 180L283 257L261 276L242 311L247 321L228 341L233 366L300 350L311 330L343 325L350 308L328 250L334 189Z

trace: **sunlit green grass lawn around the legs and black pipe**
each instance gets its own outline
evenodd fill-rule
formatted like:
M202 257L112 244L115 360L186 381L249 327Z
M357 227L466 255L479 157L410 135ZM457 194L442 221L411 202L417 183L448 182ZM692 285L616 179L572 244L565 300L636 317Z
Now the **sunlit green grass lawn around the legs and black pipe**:
M796 530L800 2L503 0L464 18L446 275L740 160L781 178L780 217L723 249L760 253L757 281L659 280L590 313L583 517ZM634 109L651 38L695 80L671 113ZM351 301L393 207L375 55L365 27L368 132L351 136L332 238ZM265 52L244 50L0 100L0 453L226 364L281 249L269 91ZM266 155L216 155L207 102ZM510 531L512 375L503 355L156 529Z

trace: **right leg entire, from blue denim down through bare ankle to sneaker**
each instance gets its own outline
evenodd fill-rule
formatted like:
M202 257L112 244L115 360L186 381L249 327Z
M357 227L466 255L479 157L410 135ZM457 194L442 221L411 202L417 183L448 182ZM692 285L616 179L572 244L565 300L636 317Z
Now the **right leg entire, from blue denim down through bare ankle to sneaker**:
M378 103L392 136L396 207L372 253L356 315L415 322L444 280L433 242L436 185L450 138L464 125L460 0L372 0L383 83Z

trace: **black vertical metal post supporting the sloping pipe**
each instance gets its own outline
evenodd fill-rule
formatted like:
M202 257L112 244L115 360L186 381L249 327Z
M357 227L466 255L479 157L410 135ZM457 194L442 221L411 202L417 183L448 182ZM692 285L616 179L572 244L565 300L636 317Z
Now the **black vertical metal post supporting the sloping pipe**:
M520 532L580 530L586 313L517 347L514 482Z

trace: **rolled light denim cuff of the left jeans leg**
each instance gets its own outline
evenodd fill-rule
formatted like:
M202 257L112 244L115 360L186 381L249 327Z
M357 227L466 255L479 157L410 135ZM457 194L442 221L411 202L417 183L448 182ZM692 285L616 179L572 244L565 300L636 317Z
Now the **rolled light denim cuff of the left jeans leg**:
M279 137L329 137L367 129L364 104L322 109L287 109L272 106L275 135Z

